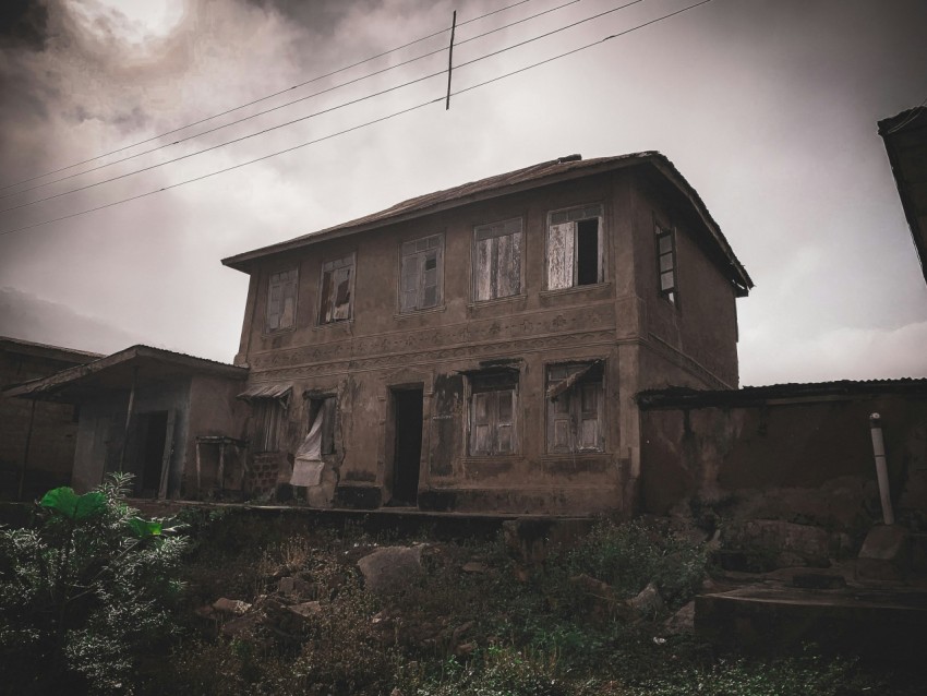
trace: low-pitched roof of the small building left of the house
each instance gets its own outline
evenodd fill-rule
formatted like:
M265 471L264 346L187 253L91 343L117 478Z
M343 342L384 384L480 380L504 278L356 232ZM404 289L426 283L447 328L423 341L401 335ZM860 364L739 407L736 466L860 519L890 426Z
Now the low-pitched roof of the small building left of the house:
M132 346L87 364L68 368L47 377L8 387L3 396L77 401L86 394L98 393L99 389L128 388L133 381L137 386L143 386L194 374L243 380L248 376L248 370L164 348Z

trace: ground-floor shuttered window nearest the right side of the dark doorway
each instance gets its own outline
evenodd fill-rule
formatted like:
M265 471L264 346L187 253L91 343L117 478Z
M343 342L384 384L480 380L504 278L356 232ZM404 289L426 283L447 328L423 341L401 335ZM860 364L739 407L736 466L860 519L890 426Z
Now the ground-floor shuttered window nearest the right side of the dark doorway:
M518 374L481 374L470 380L470 454L518 451L515 435Z

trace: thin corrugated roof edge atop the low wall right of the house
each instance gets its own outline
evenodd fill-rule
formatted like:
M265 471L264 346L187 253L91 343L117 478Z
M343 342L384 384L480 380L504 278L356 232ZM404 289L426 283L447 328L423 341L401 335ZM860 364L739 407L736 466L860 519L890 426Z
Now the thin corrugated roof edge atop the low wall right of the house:
M879 394L906 394L927 398L927 379L838 380L745 386L739 389L691 389L674 386L639 392L637 403L643 409L772 406L795 401L846 400Z

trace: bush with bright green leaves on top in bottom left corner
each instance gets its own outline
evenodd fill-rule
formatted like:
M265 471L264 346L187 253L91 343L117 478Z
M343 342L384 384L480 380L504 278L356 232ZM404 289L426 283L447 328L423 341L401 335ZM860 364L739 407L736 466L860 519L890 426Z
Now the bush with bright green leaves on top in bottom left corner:
M120 691L172 629L185 540L125 505L129 482L55 489L31 527L0 529L0 680L11 693Z

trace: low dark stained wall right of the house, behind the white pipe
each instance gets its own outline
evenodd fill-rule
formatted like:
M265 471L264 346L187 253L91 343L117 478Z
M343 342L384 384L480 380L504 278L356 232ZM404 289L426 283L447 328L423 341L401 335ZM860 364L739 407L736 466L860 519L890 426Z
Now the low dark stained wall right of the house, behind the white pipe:
M736 393L732 393L736 394ZM927 515L927 394L797 397L782 387L749 405L645 408L642 507L665 513L690 500L763 492L778 511L848 524L878 516L869 415L882 417L892 497L900 517Z

